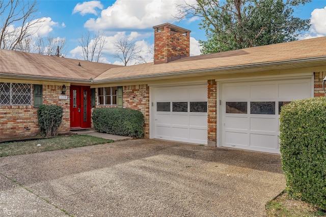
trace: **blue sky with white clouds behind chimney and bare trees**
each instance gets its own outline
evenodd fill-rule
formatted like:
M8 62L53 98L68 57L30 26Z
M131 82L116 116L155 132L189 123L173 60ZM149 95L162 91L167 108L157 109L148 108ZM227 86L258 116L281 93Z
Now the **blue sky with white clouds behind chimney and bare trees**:
M199 20L173 19L176 3L182 4L183 0L37 1L37 18L44 18L38 34L64 38L66 57L83 59L78 40L87 31L91 34L99 31L107 41L101 61L121 65L119 59L113 58L115 41L126 37L135 42L143 50L143 56L150 61L148 47L153 45L152 27L170 22L192 30L191 55L199 55L198 40L205 40L205 32L199 29ZM301 39L326 36L326 0L312 0L295 9L294 15L311 18L312 27Z

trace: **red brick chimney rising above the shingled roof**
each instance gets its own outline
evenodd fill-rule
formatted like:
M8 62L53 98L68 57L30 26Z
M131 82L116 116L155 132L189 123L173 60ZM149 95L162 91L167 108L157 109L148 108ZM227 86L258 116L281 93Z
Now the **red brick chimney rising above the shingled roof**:
M168 63L190 55L191 30L164 23L154 28L154 64Z

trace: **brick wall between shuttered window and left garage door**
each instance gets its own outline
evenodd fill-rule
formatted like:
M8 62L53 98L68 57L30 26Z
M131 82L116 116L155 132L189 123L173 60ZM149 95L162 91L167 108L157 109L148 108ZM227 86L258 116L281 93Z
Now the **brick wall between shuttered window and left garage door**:
M123 107L136 109L144 114L144 134L145 138L149 138L149 86L123 86Z

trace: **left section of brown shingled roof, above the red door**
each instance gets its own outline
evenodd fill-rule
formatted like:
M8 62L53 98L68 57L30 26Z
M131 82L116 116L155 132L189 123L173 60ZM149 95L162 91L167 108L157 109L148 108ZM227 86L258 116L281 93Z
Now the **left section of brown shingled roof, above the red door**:
M0 49L0 74L89 80L122 66Z

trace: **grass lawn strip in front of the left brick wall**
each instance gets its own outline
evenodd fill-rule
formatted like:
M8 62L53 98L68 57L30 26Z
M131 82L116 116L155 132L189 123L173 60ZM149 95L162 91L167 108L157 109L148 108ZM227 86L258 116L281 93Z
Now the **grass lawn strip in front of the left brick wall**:
M57 136L48 139L0 143L0 157L37 153L113 142L89 135Z

